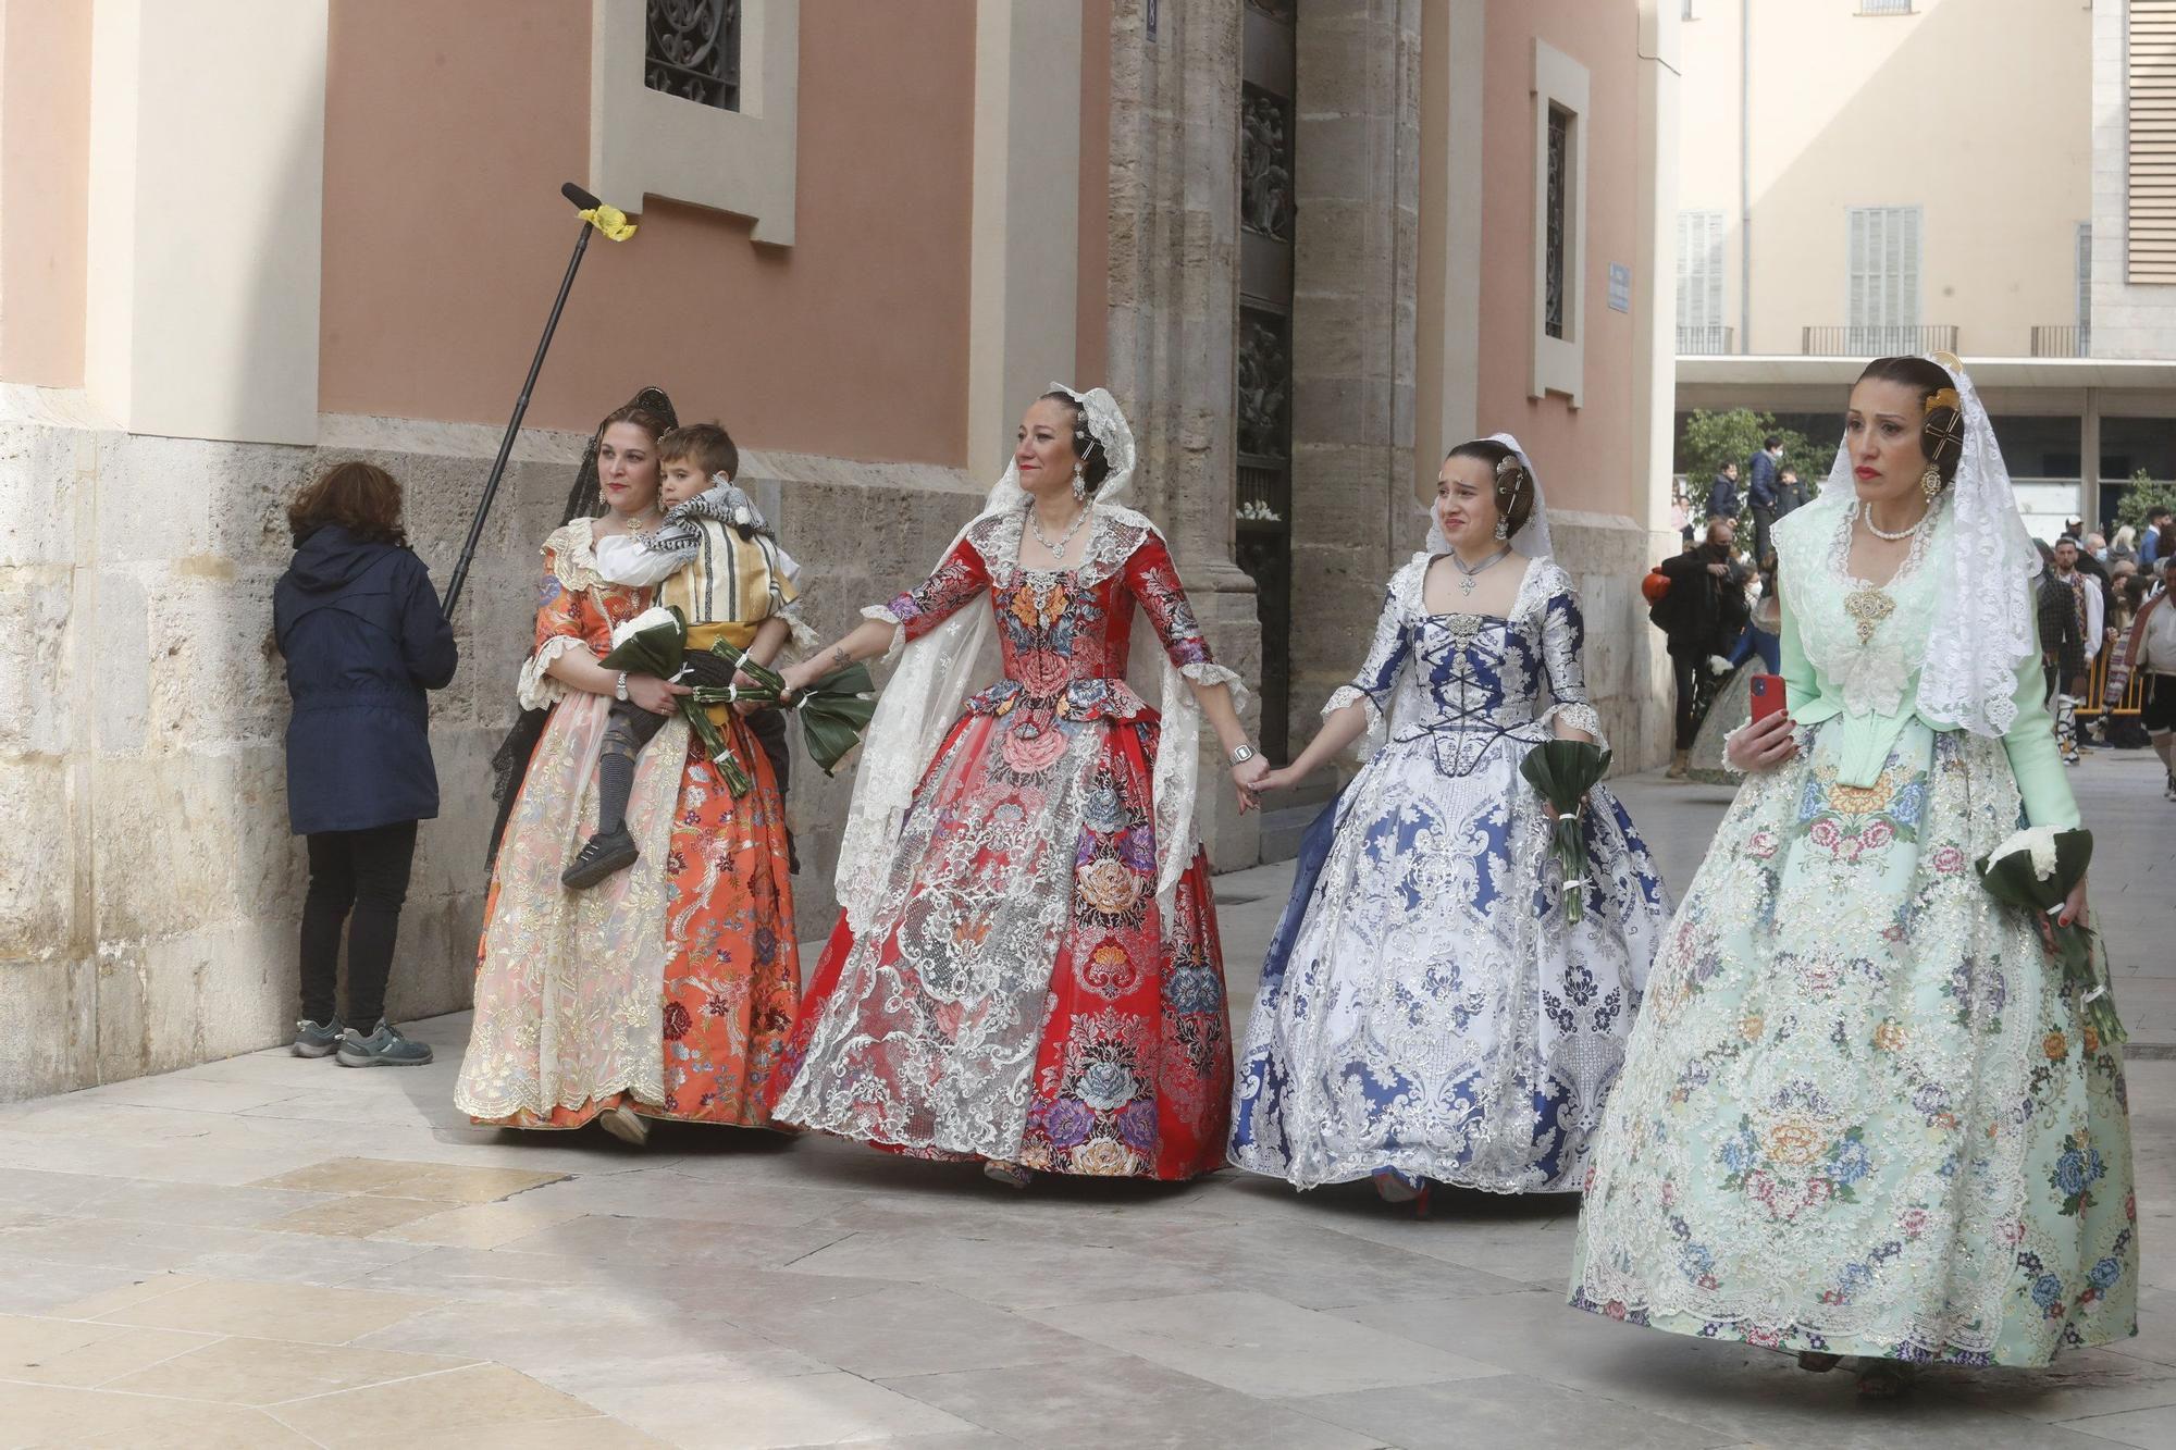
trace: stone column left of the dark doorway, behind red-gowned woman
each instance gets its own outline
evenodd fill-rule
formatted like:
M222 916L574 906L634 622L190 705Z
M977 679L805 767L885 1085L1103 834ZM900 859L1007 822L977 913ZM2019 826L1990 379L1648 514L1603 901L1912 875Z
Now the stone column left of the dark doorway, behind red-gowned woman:
M1262 675L1253 579L1232 562L1238 464L1240 7L1112 4L1110 390L1140 444L1134 503L1171 538L1219 662ZM1251 721L1249 721L1251 725ZM1251 867L1223 753L1201 732L1201 838Z

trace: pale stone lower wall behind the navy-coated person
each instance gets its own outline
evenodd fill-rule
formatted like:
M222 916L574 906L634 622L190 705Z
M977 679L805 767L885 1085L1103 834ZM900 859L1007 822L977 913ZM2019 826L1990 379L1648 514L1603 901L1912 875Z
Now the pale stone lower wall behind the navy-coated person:
M285 1041L298 1012L302 845L287 834L287 695L272 586L285 507L331 462L407 490L444 581L496 431L326 418L316 448L141 438L74 392L0 388L0 1099L168 1071ZM442 812L422 830L387 1010L468 1006L490 755L514 714L537 544L581 438L524 433L433 697ZM931 466L751 451L746 477L844 631L923 577L981 486ZM829 930L846 773L801 771L799 923Z

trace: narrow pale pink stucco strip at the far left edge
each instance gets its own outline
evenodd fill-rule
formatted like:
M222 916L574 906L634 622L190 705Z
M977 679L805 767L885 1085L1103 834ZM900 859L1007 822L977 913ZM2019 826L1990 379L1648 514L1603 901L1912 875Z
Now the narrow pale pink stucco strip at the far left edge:
M91 0L0 4L0 381L83 383Z

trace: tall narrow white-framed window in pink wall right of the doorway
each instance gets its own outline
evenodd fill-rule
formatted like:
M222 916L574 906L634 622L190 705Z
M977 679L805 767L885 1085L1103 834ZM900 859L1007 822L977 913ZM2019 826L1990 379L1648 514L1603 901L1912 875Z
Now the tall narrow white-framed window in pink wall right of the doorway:
M1580 405L1586 379L1586 67L1534 41L1534 374Z

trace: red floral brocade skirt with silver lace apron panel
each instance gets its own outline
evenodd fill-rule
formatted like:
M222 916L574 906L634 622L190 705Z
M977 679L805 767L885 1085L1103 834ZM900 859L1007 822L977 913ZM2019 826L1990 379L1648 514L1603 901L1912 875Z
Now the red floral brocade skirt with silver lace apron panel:
M1055 1173L1223 1163L1232 1041L1208 858L1158 904L1155 729L953 725L870 927L842 917L809 982L781 1123Z

